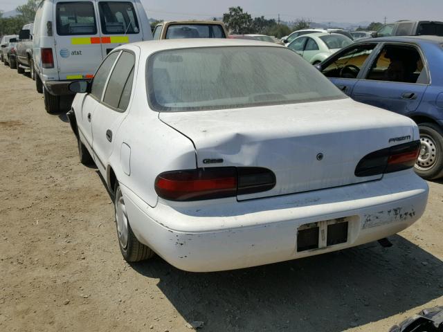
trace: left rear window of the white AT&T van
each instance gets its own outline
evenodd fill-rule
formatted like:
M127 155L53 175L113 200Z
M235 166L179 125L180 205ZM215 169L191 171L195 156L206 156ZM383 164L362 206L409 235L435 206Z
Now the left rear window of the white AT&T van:
M57 3L57 34L60 36L96 35L96 15L90 1Z

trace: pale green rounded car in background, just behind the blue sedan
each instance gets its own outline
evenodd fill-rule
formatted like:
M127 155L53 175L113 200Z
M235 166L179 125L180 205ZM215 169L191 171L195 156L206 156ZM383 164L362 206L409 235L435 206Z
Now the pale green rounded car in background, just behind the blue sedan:
M320 64L329 55L352 44L352 39L338 33L311 33L293 39L287 46L311 64Z

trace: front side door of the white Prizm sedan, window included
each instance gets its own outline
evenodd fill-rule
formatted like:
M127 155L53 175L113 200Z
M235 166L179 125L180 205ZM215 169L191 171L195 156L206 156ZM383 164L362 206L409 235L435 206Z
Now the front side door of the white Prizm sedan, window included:
M105 61L100 65L97 71L96 77L94 77L91 85L91 93L84 96L82 101L82 115L78 120L78 129L80 135L82 136L82 142L91 152L92 142L93 142L93 132L91 127L91 122L96 113L96 109L102 100L103 91L105 90L105 84L108 80L111 68L114 66L118 53L112 53L105 59Z

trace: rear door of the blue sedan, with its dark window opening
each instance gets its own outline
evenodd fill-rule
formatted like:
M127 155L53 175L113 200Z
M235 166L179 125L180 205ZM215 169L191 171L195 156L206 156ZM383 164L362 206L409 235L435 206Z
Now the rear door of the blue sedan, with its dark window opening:
M429 84L425 64L416 46L385 44L356 83L352 98L407 115L417 109Z

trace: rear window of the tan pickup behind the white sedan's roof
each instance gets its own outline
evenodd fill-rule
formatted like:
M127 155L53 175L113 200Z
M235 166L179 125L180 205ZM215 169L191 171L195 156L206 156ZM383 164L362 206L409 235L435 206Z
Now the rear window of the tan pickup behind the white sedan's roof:
M226 38L217 24L174 24L168 26L166 39L181 38Z

